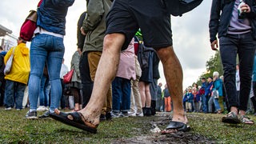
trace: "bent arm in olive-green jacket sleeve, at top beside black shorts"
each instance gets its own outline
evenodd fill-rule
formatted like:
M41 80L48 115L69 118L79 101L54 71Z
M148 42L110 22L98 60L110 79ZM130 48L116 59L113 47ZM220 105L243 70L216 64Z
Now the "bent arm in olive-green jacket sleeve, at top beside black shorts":
M86 18L82 23L82 29L85 33L94 30L102 21L104 14L103 2L100 0L89 1L87 6Z

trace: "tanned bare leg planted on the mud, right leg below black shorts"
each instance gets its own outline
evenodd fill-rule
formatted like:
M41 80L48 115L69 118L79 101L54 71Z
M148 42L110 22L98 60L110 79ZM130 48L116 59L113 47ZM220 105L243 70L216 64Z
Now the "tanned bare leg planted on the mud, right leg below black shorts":
M174 53L173 46L157 50L166 77L168 89L172 97L174 115L172 120L186 123L187 119L182 106L182 66Z

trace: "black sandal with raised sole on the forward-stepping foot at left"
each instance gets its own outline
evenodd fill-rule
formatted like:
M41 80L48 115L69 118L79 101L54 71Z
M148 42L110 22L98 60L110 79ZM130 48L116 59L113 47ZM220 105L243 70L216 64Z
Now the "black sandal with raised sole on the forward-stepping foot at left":
M58 122L65 123L69 126L74 126L81 130L86 130L90 133L97 133L97 126L94 126L90 122L86 122L83 115L79 112L73 112L73 113L63 113L60 112L59 114L50 113L50 118L54 118Z

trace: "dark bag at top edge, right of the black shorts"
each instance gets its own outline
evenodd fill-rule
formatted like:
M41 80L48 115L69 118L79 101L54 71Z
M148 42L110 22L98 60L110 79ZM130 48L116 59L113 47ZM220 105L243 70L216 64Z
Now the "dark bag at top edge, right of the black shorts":
M168 13L174 16L182 16L182 14L193 10L199 6L203 0L162 0L166 2Z

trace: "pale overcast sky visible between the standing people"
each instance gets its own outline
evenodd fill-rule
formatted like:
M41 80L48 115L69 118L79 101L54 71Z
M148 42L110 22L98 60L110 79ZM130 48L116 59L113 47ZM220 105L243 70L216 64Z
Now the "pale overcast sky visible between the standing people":
M38 0L1 0L0 24L13 31L18 37L19 29L30 10L35 10ZM210 50L208 22L210 18L210 0L204 0L200 6L182 17L172 17L174 50L183 68L183 89L198 80L206 71L206 61L214 55ZM64 43L65 63L70 67L72 54L77 50L76 30L80 14L86 10L85 0L76 0L66 16L66 36ZM28 44L29 46L30 44ZM161 78L165 84L162 66L159 66Z

